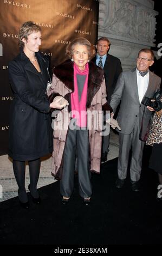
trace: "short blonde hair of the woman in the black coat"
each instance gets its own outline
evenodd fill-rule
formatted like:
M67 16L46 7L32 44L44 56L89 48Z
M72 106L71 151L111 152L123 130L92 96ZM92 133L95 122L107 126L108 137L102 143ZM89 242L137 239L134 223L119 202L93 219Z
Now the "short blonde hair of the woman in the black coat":
M38 32L38 31L41 32L41 28L38 25L36 25L33 21L27 21L23 23L18 34L18 39L19 39L18 45L20 47L23 47L24 42L22 41L22 39L24 38L25 40L28 41L28 36L33 32Z

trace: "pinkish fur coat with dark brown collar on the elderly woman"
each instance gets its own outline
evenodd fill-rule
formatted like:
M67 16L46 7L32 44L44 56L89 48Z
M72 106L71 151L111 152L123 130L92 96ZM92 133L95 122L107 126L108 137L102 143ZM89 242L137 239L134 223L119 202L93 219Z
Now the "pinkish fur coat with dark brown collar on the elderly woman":
M61 95L69 102L68 107L63 108L61 111L57 111L57 117L53 120L54 151L52 174L58 179L61 179L62 176L63 152L70 122L70 94L74 92L73 65L73 62L66 60L66 62L54 69L51 88L48 91L49 97L51 97L52 94L54 94L54 96ZM102 127L93 127L95 122L93 115L91 114L92 111L99 113L99 111L102 110L112 112L112 108L107 103L106 96L103 70L90 62L86 110L87 120L90 119L90 123L92 123L92 127L88 129L90 170L96 173L100 172Z

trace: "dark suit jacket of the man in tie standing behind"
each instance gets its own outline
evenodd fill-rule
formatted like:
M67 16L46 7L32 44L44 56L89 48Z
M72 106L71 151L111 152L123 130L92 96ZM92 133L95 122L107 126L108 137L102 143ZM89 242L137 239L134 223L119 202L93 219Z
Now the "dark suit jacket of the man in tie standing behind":
M96 56L92 59L92 61L96 63ZM122 72L120 59L112 56L111 54L107 54L103 69L105 73L107 100L109 103L111 100L111 95L114 92L118 76Z

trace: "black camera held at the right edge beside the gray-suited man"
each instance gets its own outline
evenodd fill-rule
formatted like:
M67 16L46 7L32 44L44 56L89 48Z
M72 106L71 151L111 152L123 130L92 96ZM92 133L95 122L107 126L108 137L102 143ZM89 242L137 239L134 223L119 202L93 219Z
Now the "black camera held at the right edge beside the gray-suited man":
M152 107L155 111L160 111L162 108L162 102L160 101L161 96L162 90L158 90L158 92L156 92L152 98L145 97L145 99L142 100L141 103L145 106Z

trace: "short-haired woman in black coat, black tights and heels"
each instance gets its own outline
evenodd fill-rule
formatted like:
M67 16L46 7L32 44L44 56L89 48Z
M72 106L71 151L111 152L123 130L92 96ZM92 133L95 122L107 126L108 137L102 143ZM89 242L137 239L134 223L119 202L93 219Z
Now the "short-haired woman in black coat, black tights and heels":
M55 98L52 103L46 95L49 80L48 59L38 50L41 29L34 22L25 22L20 28L21 52L9 63L9 79L14 93L10 110L9 156L13 159L18 198L28 208L25 191L25 161L29 163L29 190L33 202L40 204L37 181L40 157L53 151L50 108L66 106L66 101ZM62 105L61 105L62 104Z

